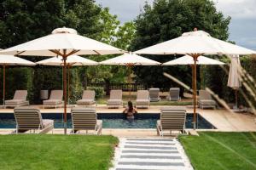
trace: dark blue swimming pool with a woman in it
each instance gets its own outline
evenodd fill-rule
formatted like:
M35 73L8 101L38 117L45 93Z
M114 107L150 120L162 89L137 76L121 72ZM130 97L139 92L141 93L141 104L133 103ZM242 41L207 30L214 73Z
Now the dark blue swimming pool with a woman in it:
M55 128L63 127L63 115L60 113L43 113L44 119L53 119ZM159 113L137 114L134 120L127 120L124 114L120 113L98 113L98 119L102 120L103 128L155 128L156 121L160 118ZM210 122L207 122L200 114L197 114L197 128L214 129ZM186 128L193 128L193 114L187 114ZM71 116L67 114L67 127L72 127ZM13 114L0 114L0 128L15 128L15 117Z

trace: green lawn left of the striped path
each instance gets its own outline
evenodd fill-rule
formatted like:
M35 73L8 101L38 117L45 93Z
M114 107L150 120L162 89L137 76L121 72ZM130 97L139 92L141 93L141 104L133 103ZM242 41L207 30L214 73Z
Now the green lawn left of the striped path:
M113 136L0 135L1 169L108 169Z

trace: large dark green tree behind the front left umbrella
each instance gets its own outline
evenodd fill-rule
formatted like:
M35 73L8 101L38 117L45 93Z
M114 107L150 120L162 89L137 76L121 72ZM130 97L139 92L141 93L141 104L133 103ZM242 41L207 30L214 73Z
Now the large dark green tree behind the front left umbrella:
M3 0L0 3L0 48L9 48L46 36L55 28L62 26L72 27L82 36L111 44L115 41L114 36L119 20L116 15L109 14L108 8L102 8L94 0ZM101 59L101 57L98 58ZM45 58L26 59L38 61ZM12 74L9 77L22 75L23 73L19 71L23 71L26 75L36 76L32 81L24 79L22 83L24 87L20 87L24 89L33 87L29 89L29 97L33 94L32 101L39 99L39 90L42 88L61 88L60 67L36 66L29 70L32 71L29 74L26 68L16 69L9 71ZM77 73L77 68L75 68L72 71L71 75L76 79L76 82L72 81L76 83L72 87L81 89L81 81L84 81L84 77L78 77L78 75L83 76L84 70L80 69ZM100 68L97 72L108 73L108 70ZM32 84L28 85L28 83ZM13 93L12 90L8 89L7 93L9 91L10 94Z

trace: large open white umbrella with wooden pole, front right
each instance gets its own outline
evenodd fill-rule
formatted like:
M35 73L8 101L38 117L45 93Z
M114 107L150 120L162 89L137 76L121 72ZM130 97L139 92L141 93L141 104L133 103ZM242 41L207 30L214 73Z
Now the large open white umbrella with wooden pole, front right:
M185 32L181 37L137 50L136 54L188 54L194 59L193 94L194 128L196 122L196 60L203 54L256 54L255 51L242 48L229 42L211 37L205 31Z

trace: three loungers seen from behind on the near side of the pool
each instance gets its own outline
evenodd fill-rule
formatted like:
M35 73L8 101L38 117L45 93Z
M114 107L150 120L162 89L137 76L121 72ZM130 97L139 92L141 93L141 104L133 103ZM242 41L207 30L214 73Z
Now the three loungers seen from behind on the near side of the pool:
M53 132L54 120L43 119L36 107L22 106L14 110L16 129L14 133ZM96 110L92 108L74 107L71 111L73 127L71 133L102 134L102 120L97 119ZM178 131L184 133L186 107L169 107L161 109L160 120L157 121L157 134L164 136L164 132ZM168 133L168 134L170 134Z

